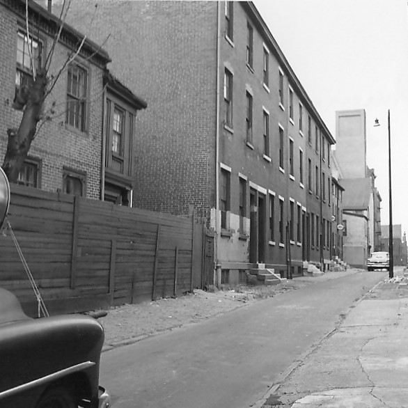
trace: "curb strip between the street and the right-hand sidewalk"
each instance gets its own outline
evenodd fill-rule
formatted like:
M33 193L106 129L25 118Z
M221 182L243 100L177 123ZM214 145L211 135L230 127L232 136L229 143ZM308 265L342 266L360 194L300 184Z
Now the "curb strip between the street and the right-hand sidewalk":
M355 308L358 304L361 303L361 301L363 301L366 296L368 295L368 293L372 292L373 290L375 290L377 288L378 285L380 285L381 283L384 282L384 279L382 281L379 281L378 283L376 283L370 290L368 290L368 292L366 292L361 299L357 300L354 304L352 304L352 306L350 306L349 310L347 311L346 316L350 313L350 311L352 310L352 308ZM278 391L279 387L283 384L283 382L285 381L285 379L287 379L293 371L295 371L300 364L310 355L313 354L313 352L315 352L315 350L317 350L317 347L319 347L319 345L326 340L327 338L329 338L330 336L332 336L338 329L339 327L341 327L341 324L343 323L343 318L339 316L340 322L338 323L338 325L332 329L331 331L328 331L327 334L324 334L324 336L319 340L318 343L315 343L313 345L311 345L311 347L309 348L308 351L304 352L303 354L301 354L301 356L299 356L298 359L296 359L285 371L283 371L281 373L281 375L278 376L278 378L276 379L276 382L274 383L274 385L257 401L255 402L253 405L249 405L252 408L262 408L265 405L265 402L267 401L267 399L274 393L276 393L276 391Z

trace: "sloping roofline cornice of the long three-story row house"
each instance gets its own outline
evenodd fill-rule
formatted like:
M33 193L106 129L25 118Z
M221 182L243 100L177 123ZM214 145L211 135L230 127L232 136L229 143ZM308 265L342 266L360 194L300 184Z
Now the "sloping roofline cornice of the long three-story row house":
M255 4L253 4L252 1L240 1L240 3L242 7L246 10L246 12L249 13L251 17L253 17L254 22L258 25L258 29L260 29L260 31L262 31L267 37L269 44L272 45L271 51L274 52L275 56L278 58L281 65L283 65L282 68L286 70L288 77L291 79L290 81L291 86L296 89L299 96L301 96L301 98L303 99L304 104L311 109L311 116L314 116L316 122L320 125L320 127L322 127L322 129L324 130L324 133L327 136L327 139L329 140L329 143L332 145L336 144L336 140L334 139L331 132L329 131L329 128L323 122L322 118L320 117L320 114L317 112L317 109L313 105L311 98L308 96L308 94L304 90L304 87L301 85L301 82L297 78L295 72L292 70L292 67L290 66L285 55L283 54L281 48L278 46L278 43L274 39L274 36L272 36L272 33L269 30L264 19L262 19Z

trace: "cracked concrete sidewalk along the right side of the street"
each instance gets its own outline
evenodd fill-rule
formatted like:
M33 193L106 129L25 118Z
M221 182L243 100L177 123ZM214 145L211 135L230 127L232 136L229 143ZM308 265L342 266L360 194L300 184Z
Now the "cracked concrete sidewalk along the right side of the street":
M408 278L384 278L255 407L408 407Z

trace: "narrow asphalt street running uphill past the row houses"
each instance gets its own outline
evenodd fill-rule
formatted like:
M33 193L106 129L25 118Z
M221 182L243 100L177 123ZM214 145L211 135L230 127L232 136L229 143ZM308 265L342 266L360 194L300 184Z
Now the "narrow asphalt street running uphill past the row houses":
M102 354L116 408L251 407L386 272L357 272Z

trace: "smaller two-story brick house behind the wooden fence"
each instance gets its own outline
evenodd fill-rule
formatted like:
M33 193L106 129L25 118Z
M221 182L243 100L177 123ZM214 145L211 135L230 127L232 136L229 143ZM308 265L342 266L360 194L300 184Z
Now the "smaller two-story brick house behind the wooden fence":
M33 68L49 53L49 95L43 118L19 173L18 183L116 203L129 203L134 186L133 138L136 111L146 107L107 70L107 52L68 24L58 36L59 15L41 4L0 0L0 152L9 127L18 127L15 109ZM53 84L53 78L58 78ZM105 118L105 119L104 119Z

